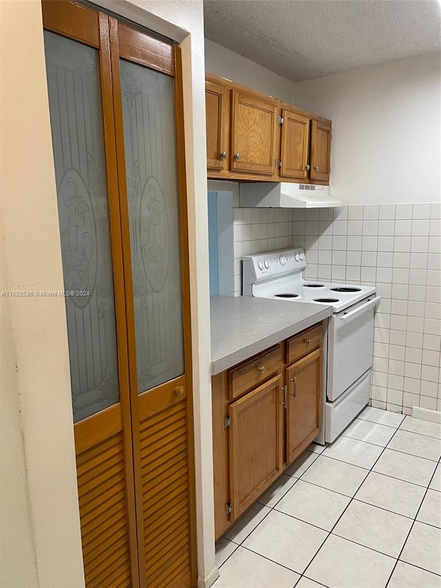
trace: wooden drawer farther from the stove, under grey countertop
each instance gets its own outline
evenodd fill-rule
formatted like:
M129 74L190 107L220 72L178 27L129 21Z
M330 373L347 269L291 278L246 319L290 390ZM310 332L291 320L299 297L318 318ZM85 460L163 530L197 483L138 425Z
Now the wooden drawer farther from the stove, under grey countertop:
M240 363L228 372L228 398L241 394L267 381L283 367L281 346L276 345L252 359Z

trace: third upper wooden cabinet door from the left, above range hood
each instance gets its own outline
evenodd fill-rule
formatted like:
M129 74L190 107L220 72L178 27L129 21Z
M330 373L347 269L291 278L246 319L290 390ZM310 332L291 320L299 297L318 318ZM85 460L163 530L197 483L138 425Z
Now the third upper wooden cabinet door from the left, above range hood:
M306 179L309 158L309 119L290 110L283 110L283 126L280 143L282 167L280 176Z

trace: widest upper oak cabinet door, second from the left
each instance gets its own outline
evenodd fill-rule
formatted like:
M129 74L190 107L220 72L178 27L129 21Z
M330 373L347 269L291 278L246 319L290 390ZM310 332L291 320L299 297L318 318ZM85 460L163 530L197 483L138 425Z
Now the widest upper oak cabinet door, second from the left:
M230 170L272 176L275 170L277 105L270 98L232 90Z

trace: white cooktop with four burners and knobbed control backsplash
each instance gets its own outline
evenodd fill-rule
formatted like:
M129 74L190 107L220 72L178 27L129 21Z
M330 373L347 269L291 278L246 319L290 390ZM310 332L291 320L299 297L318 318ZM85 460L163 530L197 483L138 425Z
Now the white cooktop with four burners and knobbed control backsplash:
M376 293L373 286L305 280L302 249L272 251L243 258L243 294L285 302L332 306L335 313Z

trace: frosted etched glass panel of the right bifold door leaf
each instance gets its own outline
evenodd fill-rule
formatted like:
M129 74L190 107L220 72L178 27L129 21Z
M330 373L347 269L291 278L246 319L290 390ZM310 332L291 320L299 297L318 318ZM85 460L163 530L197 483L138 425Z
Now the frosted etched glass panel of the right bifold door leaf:
M184 372L174 80L121 59L138 392Z

